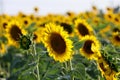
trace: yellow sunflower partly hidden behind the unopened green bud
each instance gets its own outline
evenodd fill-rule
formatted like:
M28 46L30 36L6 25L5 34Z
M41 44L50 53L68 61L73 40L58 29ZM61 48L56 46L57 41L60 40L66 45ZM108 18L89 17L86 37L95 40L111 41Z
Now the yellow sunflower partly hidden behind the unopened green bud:
M20 36L26 34L26 31L21 27L17 20L12 20L8 23L6 29L6 37L8 38L8 43L10 45L16 45L16 42L19 41Z

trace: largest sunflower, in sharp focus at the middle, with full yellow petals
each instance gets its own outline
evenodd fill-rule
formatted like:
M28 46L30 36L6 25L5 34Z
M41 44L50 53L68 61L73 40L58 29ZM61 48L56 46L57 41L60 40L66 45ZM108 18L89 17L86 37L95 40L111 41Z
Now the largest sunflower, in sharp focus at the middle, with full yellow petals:
M61 26L48 23L45 25L43 35L42 41L47 47L49 55L55 61L65 62L71 59L73 54L72 41L68 39L67 32Z

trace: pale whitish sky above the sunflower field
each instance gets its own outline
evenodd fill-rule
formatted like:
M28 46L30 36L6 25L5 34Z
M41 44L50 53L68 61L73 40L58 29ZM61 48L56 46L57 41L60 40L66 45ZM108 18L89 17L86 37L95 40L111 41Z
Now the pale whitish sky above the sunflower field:
M91 10L95 5L98 9L105 11L106 7L115 7L120 5L120 0L0 0L0 14L7 13L15 15L19 11L24 13L33 13L33 8L39 7L40 15L48 13L61 13L74 11Z

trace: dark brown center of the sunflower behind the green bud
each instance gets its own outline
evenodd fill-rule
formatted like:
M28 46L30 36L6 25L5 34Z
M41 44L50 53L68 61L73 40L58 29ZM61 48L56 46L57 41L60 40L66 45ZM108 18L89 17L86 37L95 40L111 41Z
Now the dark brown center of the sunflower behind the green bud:
M20 39L20 35L22 35L22 32L17 25L12 25L12 28L10 30L10 35L12 39L18 41Z

